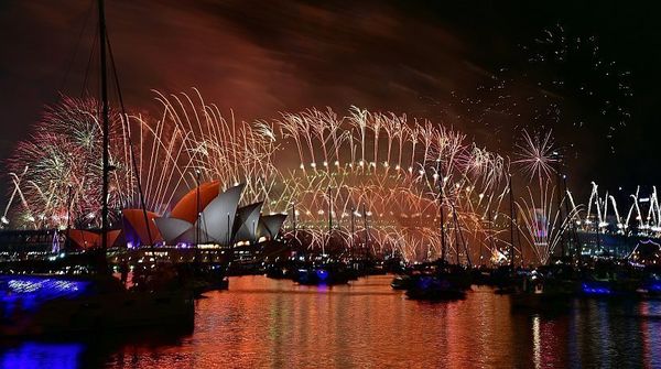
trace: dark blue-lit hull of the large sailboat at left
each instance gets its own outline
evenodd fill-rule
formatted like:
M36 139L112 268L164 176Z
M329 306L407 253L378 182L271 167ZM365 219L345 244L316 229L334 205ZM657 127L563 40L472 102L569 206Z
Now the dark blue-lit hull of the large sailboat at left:
M44 286L58 286L75 280L35 275L29 280L20 276L8 280L13 290L7 289L0 306L0 335L6 337L149 326L186 327L193 326L195 317L193 293L188 290L104 291L94 281L78 280L89 283L85 291L68 294L56 291L58 294L53 296L53 291L45 290ZM17 290L17 286L23 290Z

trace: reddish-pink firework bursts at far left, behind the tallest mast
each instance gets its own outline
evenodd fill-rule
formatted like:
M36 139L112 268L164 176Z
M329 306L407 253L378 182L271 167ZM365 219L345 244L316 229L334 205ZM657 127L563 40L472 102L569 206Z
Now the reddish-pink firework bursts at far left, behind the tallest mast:
M30 140L18 144L8 166L12 193L20 197L21 221L36 228L54 228L67 224L71 214L77 226L98 226L101 199L98 117L94 100L65 97L46 109ZM111 112L110 165L115 170L110 175L109 204L116 209L131 206L136 196L126 129L122 117Z

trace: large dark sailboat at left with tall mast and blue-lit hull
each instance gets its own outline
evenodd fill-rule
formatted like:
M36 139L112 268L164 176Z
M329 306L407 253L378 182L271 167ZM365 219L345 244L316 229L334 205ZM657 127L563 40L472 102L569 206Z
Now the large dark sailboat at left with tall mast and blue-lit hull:
M98 0L102 102L101 247L86 252L95 272L87 275L0 275L0 335L35 336L141 326L192 327L193 294L174 274L160 271L142 289L127 290L108 269L109 104L107 31L104 0Z

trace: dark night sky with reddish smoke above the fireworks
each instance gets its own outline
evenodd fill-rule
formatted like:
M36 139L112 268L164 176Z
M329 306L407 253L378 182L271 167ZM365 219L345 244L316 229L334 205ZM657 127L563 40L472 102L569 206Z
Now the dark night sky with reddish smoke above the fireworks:
M503 154L511 132L552 128L574 186L659 184L659 13L621 1L574 2L110 0L107 19L133 110L155 110L150 89L193 86L247 120L355 105L445 122ZM0 160L29 137L44 105L61 91L82 94L94 3L0 2ZM585 48L598 45L596 57L609 67L583 52L563 63L534 61L531 50L553 53L540 45L545 30L565 32L570 47L593 40ZM563 84L553 85L559 76ZM632 96L618 89L620 79ZM489 91L499 80L508 83ZM542 95L557 102L559 120L531 118ZM502 96L517 108L494 112Z

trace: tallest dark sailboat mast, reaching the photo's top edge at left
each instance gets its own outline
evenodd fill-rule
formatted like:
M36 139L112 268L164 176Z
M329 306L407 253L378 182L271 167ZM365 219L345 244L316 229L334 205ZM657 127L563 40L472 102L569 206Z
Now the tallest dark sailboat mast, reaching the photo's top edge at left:
M104 253L108 249L108 171L109 165L109 122L108 122L108 76L106 61L106 11L104 0L99 0L99 46L101 61L101 119L102 119L102 191L101 191L101 249ZM104 258L106 256L104 254Z

